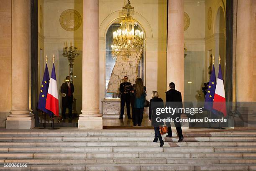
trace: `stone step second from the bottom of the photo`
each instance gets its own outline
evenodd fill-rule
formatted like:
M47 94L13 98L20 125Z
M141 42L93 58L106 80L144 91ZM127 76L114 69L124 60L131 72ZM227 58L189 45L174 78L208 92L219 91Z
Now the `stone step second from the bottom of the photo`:
M256 164L250 158L20 158L0 160L3 163L27 164Z

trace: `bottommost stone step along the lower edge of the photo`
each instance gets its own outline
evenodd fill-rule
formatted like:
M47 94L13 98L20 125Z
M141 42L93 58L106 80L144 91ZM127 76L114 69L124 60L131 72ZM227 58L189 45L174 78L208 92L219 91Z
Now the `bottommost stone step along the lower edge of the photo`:
M255 171L256 165L160 165L160 164L87 164L87 165L30 165L27 168L4 168L2 171Z

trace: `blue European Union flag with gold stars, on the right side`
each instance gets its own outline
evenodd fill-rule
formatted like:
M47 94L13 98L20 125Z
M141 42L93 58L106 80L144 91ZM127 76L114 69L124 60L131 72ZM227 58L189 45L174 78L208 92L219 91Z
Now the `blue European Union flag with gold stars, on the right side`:
M217 114L218 112L212 109L215 89L216 89L215 68L214 68L214 65L212 65L212 74L210 77L210 82L209 82L207 93L205 96L205 109L210 110L211 112Z

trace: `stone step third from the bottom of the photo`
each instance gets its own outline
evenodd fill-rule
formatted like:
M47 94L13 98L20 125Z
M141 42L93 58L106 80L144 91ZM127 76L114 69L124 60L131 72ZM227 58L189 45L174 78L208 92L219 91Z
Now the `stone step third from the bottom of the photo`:
M256 158L256 153L196 152L75 152L0 153L0 158Z

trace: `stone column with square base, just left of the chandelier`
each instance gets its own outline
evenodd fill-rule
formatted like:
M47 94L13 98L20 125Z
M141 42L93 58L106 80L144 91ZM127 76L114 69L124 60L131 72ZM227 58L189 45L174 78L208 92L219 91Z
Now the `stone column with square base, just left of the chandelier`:
M83 1L82 114L79 129L102 129L99 110L99 0Z

